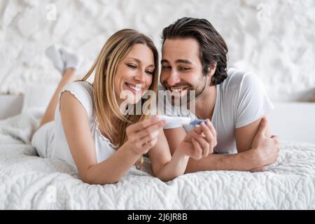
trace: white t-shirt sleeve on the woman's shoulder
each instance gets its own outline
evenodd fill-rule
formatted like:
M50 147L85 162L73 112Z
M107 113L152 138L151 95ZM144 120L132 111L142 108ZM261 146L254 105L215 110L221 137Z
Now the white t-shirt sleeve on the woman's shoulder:
M83 83L83 82L72 82L67 85L65 85L62 88L62 92L69 91L71 94L73 94L76 99L78 99L78 102L82 104L83 108L87 112L87 117L92 118L93 113L93 101L92 101L92 92L89 89L89 83ZM61 96L60 94L60 96Z

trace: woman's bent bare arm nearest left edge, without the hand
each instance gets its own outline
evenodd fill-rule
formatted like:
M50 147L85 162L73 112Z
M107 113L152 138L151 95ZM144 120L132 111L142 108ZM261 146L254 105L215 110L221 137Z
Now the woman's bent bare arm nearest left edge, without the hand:
M62 94L60 113L66 141L78 168L80 179L84 182L90 184L115 183L138 160L139 155L124 145L110 158L97 164L87 113L70 92L66 91Z

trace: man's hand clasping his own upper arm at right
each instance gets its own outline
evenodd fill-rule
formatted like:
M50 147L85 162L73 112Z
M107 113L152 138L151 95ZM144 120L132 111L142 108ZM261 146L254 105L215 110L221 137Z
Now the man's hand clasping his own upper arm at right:
M264 171L265 167L274 164L280 154L279 138L272 135L272 137L266 137L267 132L267 118L262 118L260 127L253 139L251 146L253 153L253 163L255 168L251 169L251 172Z

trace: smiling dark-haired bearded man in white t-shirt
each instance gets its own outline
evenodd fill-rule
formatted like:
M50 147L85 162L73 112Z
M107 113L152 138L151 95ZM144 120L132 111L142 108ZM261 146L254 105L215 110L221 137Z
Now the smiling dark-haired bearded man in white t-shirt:
M172 115L209 119L212 124L203 142L193 137L193 132L201 132L199 127L165 126L172 154L183 140L195 149L214 151L200 160L190 158L186 173L255 172L276 162L278 138L270 137L267 130L267 113L273 106L257 76L227 69L228 47L211 23L181 18L163 30L162 41L162 86L175 97L190 99L188 105L195 104L193 113L179 109L172 100ZM195 90L195 99L187 95L190 90Z

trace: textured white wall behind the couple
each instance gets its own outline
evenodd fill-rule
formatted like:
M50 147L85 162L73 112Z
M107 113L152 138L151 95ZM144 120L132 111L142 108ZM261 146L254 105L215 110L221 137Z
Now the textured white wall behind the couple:
M162 28L183 16L208 19L228 43L230 66L257 73L274 101L312 99L314 0L1 0L0 92L57 83L44 55L52 43L83 55L83 75L118 29L150 34L160 48Z

